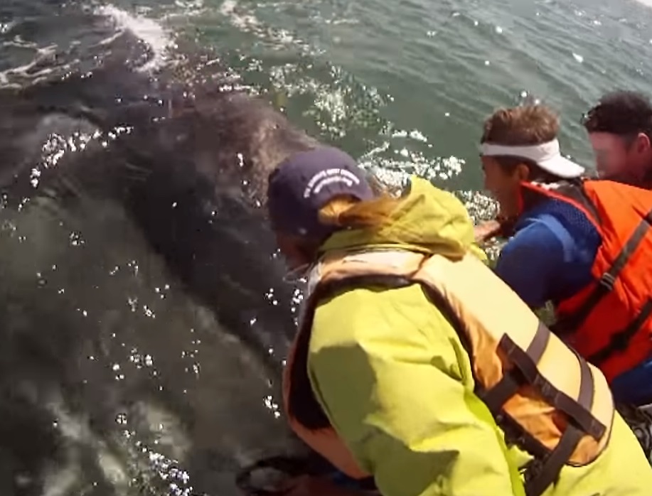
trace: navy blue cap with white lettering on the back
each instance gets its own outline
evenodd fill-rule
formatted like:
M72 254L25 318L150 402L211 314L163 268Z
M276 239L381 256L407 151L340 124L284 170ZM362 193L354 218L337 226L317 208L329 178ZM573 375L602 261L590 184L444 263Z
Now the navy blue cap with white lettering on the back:
M319 222L319 210L336 196L374 197L365 172L339 149L321 147L289 157L267 183L267 210L272 229L322 239L336 229Z

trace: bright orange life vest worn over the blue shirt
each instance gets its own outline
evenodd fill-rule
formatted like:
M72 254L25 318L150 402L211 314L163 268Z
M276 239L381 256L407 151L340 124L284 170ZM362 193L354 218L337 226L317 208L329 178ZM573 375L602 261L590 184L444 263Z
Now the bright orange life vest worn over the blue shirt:
M555 302L553 330L611 382L652 357L652 191L609 180L524 183L522 207L557 198L584 212L602 243L593 281Z

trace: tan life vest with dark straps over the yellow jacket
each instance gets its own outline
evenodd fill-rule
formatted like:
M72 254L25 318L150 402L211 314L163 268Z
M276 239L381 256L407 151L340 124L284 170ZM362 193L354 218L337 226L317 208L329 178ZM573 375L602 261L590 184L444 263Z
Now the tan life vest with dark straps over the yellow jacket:
M311 273L308 299L284 371L284 406L303 441L353 478L368 476L338 438L312 393L307 358L316 306L356 288L422 284L464 343L475 393L506 441L533 455L525 491L538 496L564 465L606 447L614 404L602 372L566 347L523 301L471 254L452 261L404 250L330 254Z

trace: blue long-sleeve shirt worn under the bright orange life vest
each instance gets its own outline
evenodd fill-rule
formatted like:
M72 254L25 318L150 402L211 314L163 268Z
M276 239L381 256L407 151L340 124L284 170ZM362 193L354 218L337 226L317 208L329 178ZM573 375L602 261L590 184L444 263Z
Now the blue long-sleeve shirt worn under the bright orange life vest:
M521 215L498 257L496 274L530 307L559 303L592 281L599 233L584 213L562 200L545 200ZM616 401L652 402L652 357L616 377Z

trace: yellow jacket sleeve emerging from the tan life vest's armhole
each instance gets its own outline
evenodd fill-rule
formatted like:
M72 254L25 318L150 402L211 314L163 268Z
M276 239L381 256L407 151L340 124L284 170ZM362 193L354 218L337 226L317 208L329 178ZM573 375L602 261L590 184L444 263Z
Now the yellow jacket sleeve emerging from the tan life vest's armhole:
M521 496L466 352L418 287L350 291L319 307L309 376L383 496Z

